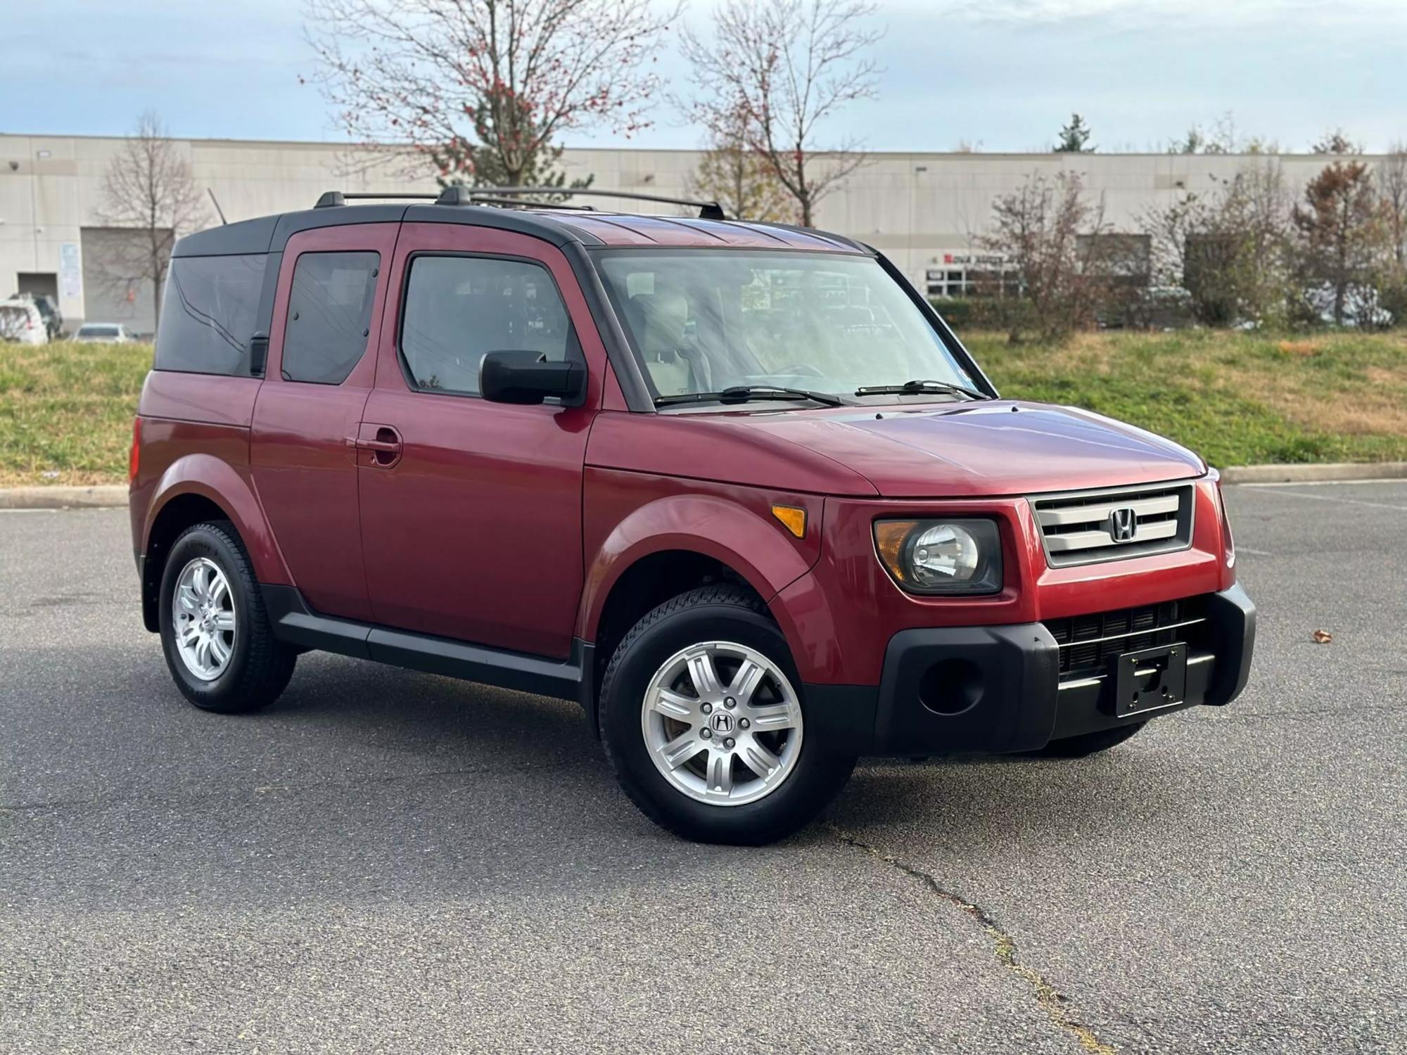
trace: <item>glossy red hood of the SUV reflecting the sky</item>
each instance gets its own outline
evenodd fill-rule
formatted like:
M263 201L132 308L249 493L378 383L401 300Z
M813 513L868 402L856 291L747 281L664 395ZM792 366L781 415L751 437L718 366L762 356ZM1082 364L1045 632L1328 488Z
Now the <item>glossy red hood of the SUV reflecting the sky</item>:
M1144 429L1010 399L750 415L865 477L886 498L1019 495L1200 475L1206 463Z

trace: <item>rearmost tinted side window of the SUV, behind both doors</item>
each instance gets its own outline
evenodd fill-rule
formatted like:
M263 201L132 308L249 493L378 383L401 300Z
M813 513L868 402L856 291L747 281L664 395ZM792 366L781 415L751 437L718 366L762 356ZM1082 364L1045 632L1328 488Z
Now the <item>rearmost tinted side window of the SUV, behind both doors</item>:
M172 259L156 326L156 369L248 374L267 260L265 253Z

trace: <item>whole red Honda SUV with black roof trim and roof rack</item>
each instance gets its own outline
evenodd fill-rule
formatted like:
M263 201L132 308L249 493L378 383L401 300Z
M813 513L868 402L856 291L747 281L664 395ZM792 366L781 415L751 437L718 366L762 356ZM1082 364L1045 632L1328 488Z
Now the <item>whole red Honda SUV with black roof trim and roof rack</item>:
M1217 473L1000 398L874 249L350 197L173 253L131 516L196 706L311 648L575 699L649 817L765 843L860 755L1088 755L1245 686Z

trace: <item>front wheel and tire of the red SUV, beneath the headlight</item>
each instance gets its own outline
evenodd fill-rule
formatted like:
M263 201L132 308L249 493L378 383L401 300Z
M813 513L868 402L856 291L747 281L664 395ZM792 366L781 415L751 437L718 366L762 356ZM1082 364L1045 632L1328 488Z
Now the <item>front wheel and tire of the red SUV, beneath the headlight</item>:
M808 824L855 758L806 733L791 650L737 587L702 587L646 615L601 684L601 738L620 788L661 827L760 845Z

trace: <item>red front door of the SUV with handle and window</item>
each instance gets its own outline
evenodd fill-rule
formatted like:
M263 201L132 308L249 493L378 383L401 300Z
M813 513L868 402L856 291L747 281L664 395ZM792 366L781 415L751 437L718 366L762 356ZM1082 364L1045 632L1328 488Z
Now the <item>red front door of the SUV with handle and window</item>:
M405 224L362 415L377 623L561 658L581 596L581 480L605 349L566 257L508 231ZM581 407L492 404L485 352L581 357Z

